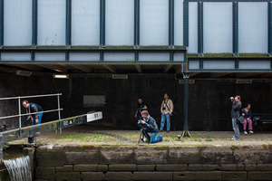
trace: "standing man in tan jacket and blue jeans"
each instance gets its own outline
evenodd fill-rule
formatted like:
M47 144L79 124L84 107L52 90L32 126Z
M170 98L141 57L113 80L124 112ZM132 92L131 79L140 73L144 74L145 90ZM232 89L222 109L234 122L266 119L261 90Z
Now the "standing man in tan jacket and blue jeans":
M160 106L160 112L161 112L161 120L160 120L160 131L163 131L165 119L167 121L166 129L167 132L170 132L170 115L172 114L174 110L174 105L172 100L169 99L168 93L165 93L163 96L163 100Z

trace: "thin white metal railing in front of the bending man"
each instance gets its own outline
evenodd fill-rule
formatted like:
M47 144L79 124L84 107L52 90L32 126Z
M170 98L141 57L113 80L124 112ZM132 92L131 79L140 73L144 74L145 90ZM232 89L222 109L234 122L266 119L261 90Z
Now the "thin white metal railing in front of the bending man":
M61 120L61 105L60 105L60 96L63 95L62 93L56 93L56 94L44 94L44 95L34 95L34 96L18 96L18 97L10 97L10 98L0 98L0 100L18 100L18 108L19 108L19 114L17 115L12 115L12 116L5 116L5 117L0 117L0 119L10 119L10 118L16 118L19 117L19 129L20 129L20 134L21 134L21 129L22 129L22 117L23 116L28 116L28 115L33 115L37 113L44 113L44 112L53 112L53 111L58 111L58 117L59 120ZM21 113L21 100L22 99L28 99L28 98L41 98L41 97L57 97L57 102L58 102L58 109L55 110L43 110L40 112L33 112L33 113Z

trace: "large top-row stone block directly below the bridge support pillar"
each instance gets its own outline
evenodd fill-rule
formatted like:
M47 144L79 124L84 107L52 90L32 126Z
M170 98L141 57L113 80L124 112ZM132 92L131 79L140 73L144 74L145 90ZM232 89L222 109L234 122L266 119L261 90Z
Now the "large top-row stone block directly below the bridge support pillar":
M199 164L200 154L197 147L171 147L169 148L168 164Z

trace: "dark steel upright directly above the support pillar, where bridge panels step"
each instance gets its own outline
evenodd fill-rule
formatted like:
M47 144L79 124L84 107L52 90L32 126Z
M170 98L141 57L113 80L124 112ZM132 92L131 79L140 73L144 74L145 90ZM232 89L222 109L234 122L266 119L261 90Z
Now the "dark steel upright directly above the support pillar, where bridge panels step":
M189 1L183 2L183 44L189 46Z

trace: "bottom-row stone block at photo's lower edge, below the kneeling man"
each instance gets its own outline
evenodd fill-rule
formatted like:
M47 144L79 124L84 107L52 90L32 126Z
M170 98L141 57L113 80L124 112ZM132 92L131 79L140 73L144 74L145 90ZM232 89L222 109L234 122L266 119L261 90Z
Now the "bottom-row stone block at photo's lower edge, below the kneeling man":
M133 180L172 180L172 172L134 172Z

